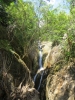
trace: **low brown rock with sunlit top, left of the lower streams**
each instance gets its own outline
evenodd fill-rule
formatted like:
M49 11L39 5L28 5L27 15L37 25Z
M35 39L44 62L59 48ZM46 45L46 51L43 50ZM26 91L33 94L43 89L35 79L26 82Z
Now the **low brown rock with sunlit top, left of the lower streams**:
M40 100L39 92L35 88L23 86L21 89L16 88L10 95L11 100Z

